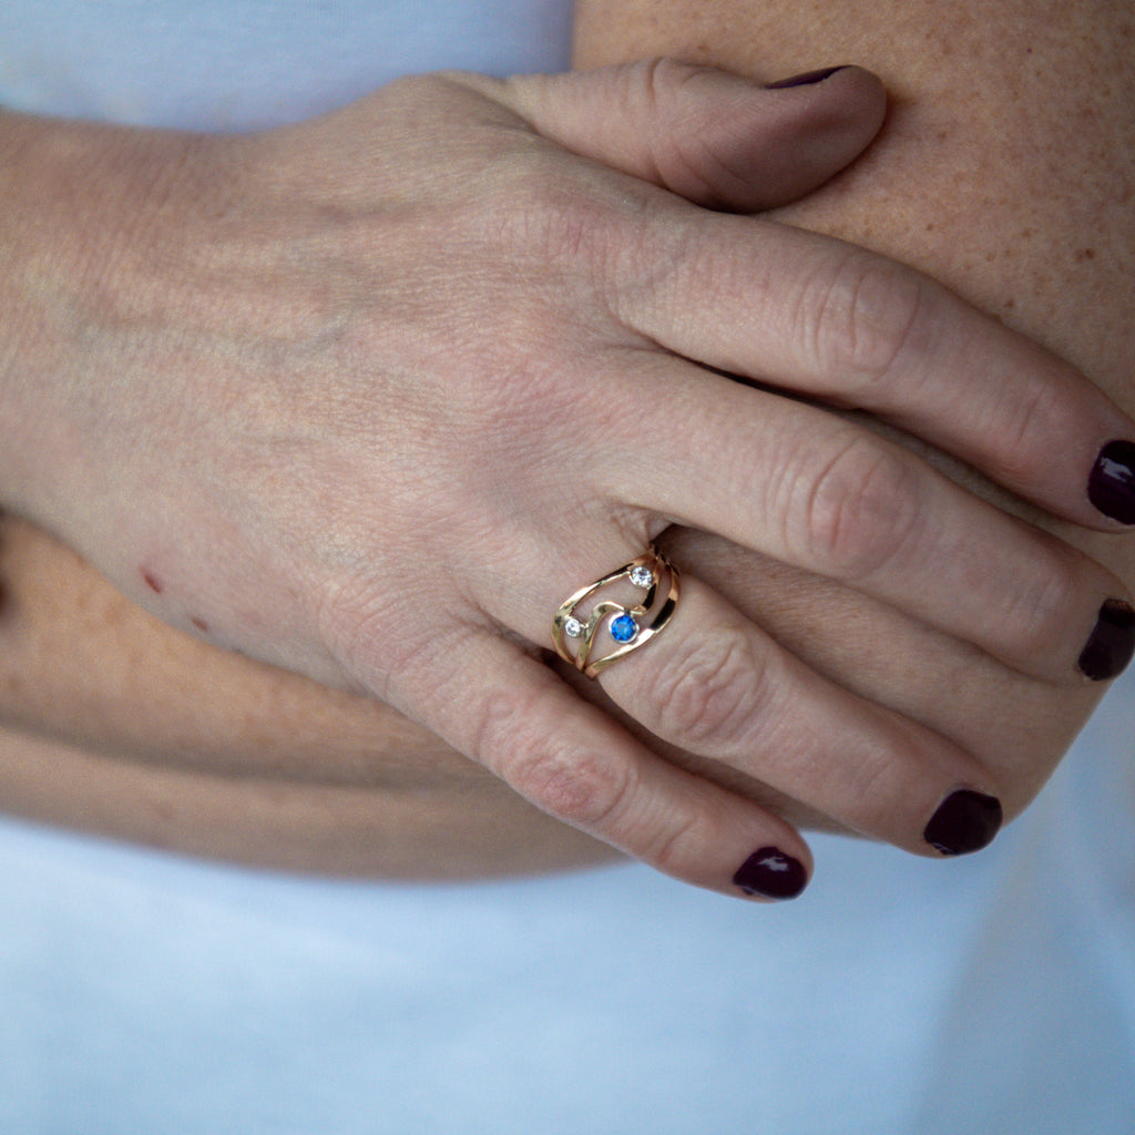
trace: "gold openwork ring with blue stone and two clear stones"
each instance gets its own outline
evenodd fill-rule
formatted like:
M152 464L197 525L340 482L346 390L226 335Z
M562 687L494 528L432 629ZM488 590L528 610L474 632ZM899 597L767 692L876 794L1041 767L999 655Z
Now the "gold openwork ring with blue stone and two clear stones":
M642 592L641 602L599 599L587 606L589 599L623 580ZM623 592L629 594L625 585ZM676 569L656 548L650 548L561 604L552 620L556 654L588 678L595 678L658 634L674 615L678 595ZM613 649L606 650L608 646ZM604 650L592 658L596 651Z

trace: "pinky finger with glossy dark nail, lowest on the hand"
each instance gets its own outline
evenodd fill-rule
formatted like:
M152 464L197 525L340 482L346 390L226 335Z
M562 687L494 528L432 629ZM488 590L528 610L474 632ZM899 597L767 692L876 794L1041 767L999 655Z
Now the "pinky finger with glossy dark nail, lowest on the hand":
M413 675L456 693L428 699L429 726L543 812L709 890L792 899L807 885L812 855L791 825L653 754L519 649L470 641L443 669ZM459 692L455 674L478 681Z

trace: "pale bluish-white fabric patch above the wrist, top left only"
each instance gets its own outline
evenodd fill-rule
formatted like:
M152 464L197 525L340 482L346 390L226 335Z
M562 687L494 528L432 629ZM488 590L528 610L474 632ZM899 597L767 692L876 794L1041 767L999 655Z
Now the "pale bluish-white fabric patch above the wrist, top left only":
M340 106L420 70L568 65L569 0L3 0L0 99L200 129Z

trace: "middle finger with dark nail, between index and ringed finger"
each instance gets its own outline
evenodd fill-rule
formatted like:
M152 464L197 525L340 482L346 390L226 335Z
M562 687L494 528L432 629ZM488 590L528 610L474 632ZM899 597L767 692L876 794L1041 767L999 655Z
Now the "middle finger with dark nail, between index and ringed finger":
M1087 556L855 422L637 359L620 370L656 381L603 470L615 498L850 585L1023 673L1070 682L1126 665L1126 589Z

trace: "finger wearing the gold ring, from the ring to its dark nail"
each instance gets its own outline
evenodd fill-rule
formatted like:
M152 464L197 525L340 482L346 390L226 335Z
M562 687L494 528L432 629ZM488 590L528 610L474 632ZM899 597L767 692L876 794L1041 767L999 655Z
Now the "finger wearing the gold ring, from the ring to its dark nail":
M535 595L506 615L533 640L547 637ZM665 629L598 680L669 745L908 851L974 851L1000 825L997 785L973 757L821 678L688 575Z

